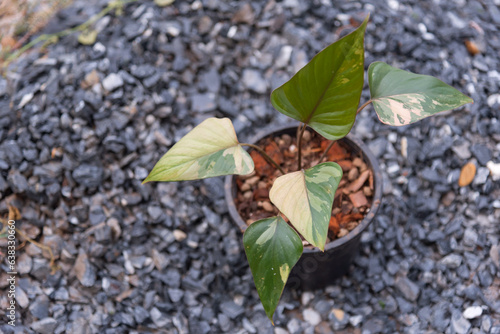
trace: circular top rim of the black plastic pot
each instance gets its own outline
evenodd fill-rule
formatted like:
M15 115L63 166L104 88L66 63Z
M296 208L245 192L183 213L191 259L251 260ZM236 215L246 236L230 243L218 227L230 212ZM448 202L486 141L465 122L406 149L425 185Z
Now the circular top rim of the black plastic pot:
M256 144L258 141L261 139L272 135L273 133L276 132L281 132L284 130L288 129L295 129L299 126L299 123L291 123L291 124L285 124L285 125L277 125L277 126L270 126L267 127L261 131L259 131L257 134L255 134L250 140L249 143L251 144ZM346 236L343 236L339 239L336 239L334 241L330 241L325 245L325 251L335 249L338 247L341 247L342 245L348 243L352 239L354 239L358 234L361 234L367 227L370 225L370 223L373 221L375 218L375 215L377 214L377 211L380 208L380 203L382 199L382 173L380 171L380 167L378 164L377 159L375 156L370 152L368 147L358 138L354 137L350 133L339 140L347 140L350 141L354 144L354 146L357 146L359 150L363 153L363 159L365 162L369 165L368 167L372 170L373 172L373 183L374 183L374 194L373 194L373 199L372 199L372 206L370 208L370 211L368 214L365 215L361 223L356 226L353 230L351 230ZM236 209L236 205L234 204L234 197L233 197L233 179L237 175L227 175L225 177L225 182L224 182L224 193L225 193L225 199L226 199L226 204L228 206L229 214L233 221L238 225L240 228L241 232L245 232L246 228L248 225L243 221L241 218L238 210ZM319 248L317 247L304 247L304 253L316 253L316 252L321 252Z

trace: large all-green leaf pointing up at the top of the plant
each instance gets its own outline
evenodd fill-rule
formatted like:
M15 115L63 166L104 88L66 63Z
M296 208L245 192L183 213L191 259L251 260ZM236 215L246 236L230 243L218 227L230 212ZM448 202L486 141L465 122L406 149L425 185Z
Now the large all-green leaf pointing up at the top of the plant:
M354 124L363 89L367 22L368 17L276 88L271 94L273 106L327 139L346 136Z

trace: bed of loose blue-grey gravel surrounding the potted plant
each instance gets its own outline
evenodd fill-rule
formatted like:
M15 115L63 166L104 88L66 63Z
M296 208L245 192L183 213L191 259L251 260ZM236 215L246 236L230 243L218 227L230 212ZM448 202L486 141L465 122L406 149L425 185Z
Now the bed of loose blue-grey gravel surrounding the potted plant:
M105 4L77 0L45 32ZM383 206L349 275L287 289L273 327L222 179L141 181L207 117L230 117L240 139L287 122L271 90L367 13L366 67L434 75L475 102L399 128L360 113ZM139 1L97 30L93 46L64 37L0 78L0 213L18 207L59 266L18 251L19 319L2 316L0 333L500 333L500 1Z

